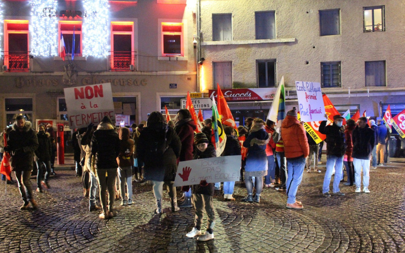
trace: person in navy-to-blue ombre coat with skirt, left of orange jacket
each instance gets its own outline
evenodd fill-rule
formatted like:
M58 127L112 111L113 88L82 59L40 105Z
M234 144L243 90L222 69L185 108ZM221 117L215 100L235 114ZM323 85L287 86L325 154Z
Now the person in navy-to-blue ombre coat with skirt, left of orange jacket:
M249 135L243 142L243 147L249 149L244 167L244 182L246 184L247 196L242 199L244 202L260 202L260 193L263 189L263 176L267 175L266 146L269 142L269 134L264 129L264 121L254 119ZM256 178L256 195L253 199L253 182Z

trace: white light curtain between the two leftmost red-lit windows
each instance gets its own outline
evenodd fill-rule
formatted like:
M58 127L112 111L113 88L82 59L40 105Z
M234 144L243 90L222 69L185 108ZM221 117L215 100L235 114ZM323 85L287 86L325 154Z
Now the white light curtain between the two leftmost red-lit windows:
M31 0L32 55L58 55L58 17L56 0Z

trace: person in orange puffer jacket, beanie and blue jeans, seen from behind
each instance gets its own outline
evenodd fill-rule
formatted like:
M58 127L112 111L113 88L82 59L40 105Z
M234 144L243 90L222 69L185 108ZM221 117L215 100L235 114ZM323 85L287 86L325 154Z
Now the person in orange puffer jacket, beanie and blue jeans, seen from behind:
M286 182L287 208L304 208L300 201L297 201L298 186L301 184L304 173L306 157L309 155L308 139L305 129L297 119L296 108L287 112L283 120L281 135L284 145L284 156L287 160L288 178Z

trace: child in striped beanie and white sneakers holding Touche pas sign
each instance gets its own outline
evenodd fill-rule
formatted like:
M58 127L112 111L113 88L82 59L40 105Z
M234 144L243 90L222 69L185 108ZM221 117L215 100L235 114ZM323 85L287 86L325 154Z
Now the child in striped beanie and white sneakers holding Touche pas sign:
M208 144L209 141L205 133L199 132L194 135L194 144L197 147L196 153L193 159L203 159L216 157L216 152L212 144ZM193 185L193 201L194 209L196 210L196 221L193 230L186 234L187 237L197 237L199 241L208 241L214 239L214 225L215 225L215 212L214 203L212 197L214 196L214 183L207 183L202 180L200 184ZM201 235L201 223L203 217L203 211L208 215L207 229L203 235Z

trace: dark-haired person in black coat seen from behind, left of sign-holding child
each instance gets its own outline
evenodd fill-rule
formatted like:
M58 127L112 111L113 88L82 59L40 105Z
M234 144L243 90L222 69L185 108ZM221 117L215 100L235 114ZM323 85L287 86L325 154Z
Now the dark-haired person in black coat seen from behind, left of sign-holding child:
M145 179L152 180L156 199L155 213L162 213L163 182L166 184L171 201L171 211L178 211L174 177L177 172L177 158L180 155L181 141L162 115L152 112L139 135L137 154L145 163Z

